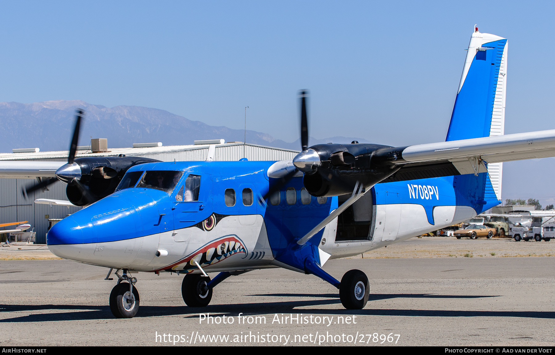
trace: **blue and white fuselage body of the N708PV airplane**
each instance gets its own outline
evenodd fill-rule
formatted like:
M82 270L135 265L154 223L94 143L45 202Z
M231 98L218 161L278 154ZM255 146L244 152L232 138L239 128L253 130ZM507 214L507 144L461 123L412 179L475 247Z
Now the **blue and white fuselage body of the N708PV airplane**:
M453 222L460 222L457 220L456 212L447 213L453 217L435 221L434 216L440 215L438 211L441 209L451 208L453 211L457 207L466 208L466 210L472 209L471 214L476 215L499 203L491 189L487 173L479 176L469 174L377 184L371 191L373 218L376 223L372 224L373 229L366 240L359 238L357 243L352 243L356 245L356 248L353 246L352 253L341 243L332 242L329 243L330 245L321 243L325 242L326 235L328 239L335 240L335 229L332 227L330 230L321 230L309 240L309 243L299 247L295 241L336 209L339 199L337 197L312 197L304 191L302 178L295 177L281 188L279 195L274 194L273 197L263 200L270 185L277 181L277 179L268 178L267 175L268 167L272 163L243 161L140 164L130 168L127 174L141 171L181 171L183 174L171 192L148 187L129 187L116 191L54 225L48 233L47 243L54 253L56 250L60 250L59 254L63 258L108 267L125 266L124 264L129 262L131 263L128 265L130 269L152 271L178 267L175 265L181 267L180 265L183 264L179 264L181 261L188 256L192 258L191 255L197 252L204 253L205 259L213 258L213 255L216 254L211 255L208 251L210 243L216 243L218 238L235 238L236 243L235 241L234 243L236 245L241 243L241 248L245 248L246 256L250 256L250 259L241 257L244 263L252 260L255 256L254 253L256 253L256 258L264 253L268 265L272 263L278 266L289 265L292 269L302 270L302 260L306 256L312 255L319 260L319 246L322 247L322 250L327 250L332 257L360 253L361 248L369 250L383 246L384 243L380 244L380 240L372 241L372 236L382 224L380 218L395 220L395 216L392 214L397 213L396 206L402 206L399 210L404 208L406 211L412 208L416 211L412 215L407 215L410 212L405 212L405 217L412 218L416 218L416 213L420 213L418 211L423 209L425 213L419 214L421 217L418 219L421 225L415 226L415 233L421 234L422 228L435 230L446 223L449 225ZM195 197L196 200L183 198L185 179L190 174L200 176L200 188L198 197ZM385 207L389 209L384 209ZM381 217L380 211L383 211L384 217ZM397 219L401 222L395 222L397 230L404 228L402 227L403 215L402 212L399 213L400 217ZM443 214L441 215L443 216ZM261 216L261 219L256 222L256 217L248 216ZM378 220L379 224L377 224ZM401 223L401 227L399 227L399 223ZM220 226L218 226L219 224ZM258 227L256 227L257 225ZM384 225L386 225L384 233L388 231L387 228L395 229L395 225L387 227L385 219ZM391 222L388 225L391 225ZM244 236L236 232L235 228L241 230ZM334 235L332 236L330 233ZM406 239L409 234L403 234L402 239ZM189 236L185 237L184 235ZM159 239L152 241L151 239L154 238ZM169 242L164 242L164 238ZM254 238L254 241L249 244L248 240L243 240L245 238ZM129 240L137 240L137 242L123 244ZM262 245L266 243L265 240L269 245ZM395 238L386 239L385 237L382 240L398 241ZM85 251L85 245L89 246L88 251ZM170 256L172 248L174 248L172 245L178 245L183 251L175 251L174 259L153 264L153 261L150 260L157 260L154 254L163 245L169 245L164 248L170 250ZM71 246L75 246L75 249L69 251ZM334 249L326 249L332 248L332 246L343 251L335 253ZM202 249L203 247L205 249ZM109 248L122 250L108 251ZM148 248L154 248L154 250L148 250L147 253L146 249ZM217 248L215 250L218 251ZM267 256L266 251L268 251ZM118 254L119 252L121 253ZM249 254L251 252L252 255ZM125 259L127 256L125 253L129 255L127 259ZM140 253L142 254L139 257ZM148 256L145 257L145 253ZM119 264L111 265L110 255L113 255L114 260L126 261L118 261ZM139 266L130 266L133 264L131 259L135 260ZM239 256L235 259L239 260ZM208 263L206 265L214 264L210 263L210 260L206 263ZM263 264L260 260L258 263Z

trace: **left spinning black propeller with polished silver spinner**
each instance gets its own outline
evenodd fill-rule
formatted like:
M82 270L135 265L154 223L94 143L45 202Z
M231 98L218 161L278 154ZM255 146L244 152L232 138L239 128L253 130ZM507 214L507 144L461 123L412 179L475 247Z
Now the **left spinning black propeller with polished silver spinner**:
M23 196L27 198L27 194L36 191L41 188L46 188L56 181L62 181L68 185L77 187L80 193L83 194L83 198L87 200L88 203L94 202L94 198L90 195L90 192L83 184L79 181L81 178L81 168L79 164L75 163L75 153L77 152L77 141L79 140L79 127L81 124L81 119L85 115L85 112L81 109L75 110L75 128L73 130L73 138L71 145L69 146L68 163L59 167L56 171L56 178L49 178L45 181L34 184L31 187L22 187L21 192Z

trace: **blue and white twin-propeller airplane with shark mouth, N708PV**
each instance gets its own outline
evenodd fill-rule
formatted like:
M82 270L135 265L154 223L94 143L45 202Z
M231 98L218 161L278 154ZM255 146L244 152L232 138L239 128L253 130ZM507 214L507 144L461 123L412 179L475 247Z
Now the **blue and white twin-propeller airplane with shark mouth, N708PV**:
M109 304L119 318L139 308L131 272L184 274L185 303L201 307L229 276L283 267L320 277L345 308L360 309L370 292L364 272L339 281L322 269L327 260L475 217L501 203L502 162L555 156L555 130L503 135L506 73L507 40L476 27L446 141L405 147L308 147L303 91L302 151L292 161L74 159L79 111L68 163L54 176L87 207L49 230L48 248L117 269ZM25 164L10 168L25 175Z

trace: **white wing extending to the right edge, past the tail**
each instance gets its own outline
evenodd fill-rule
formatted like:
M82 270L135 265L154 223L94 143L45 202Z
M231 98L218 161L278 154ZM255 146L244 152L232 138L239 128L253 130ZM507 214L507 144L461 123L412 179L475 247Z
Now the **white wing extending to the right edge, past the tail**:
M372 162L401 165L382 182L478 174L487 163L555 156L555 130L381 148Z

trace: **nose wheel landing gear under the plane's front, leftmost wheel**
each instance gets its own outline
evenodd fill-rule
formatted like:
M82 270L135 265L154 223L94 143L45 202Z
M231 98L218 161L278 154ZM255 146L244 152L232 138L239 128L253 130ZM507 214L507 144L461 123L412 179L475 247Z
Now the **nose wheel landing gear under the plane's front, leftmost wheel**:
M133 287L137 277L131 277L125 269L122 276L117 271L115 275L118 276L118 283L110 292L110 311L116 318L133 318L139 311L139 291Z

